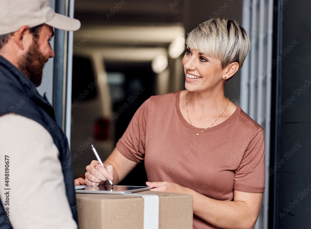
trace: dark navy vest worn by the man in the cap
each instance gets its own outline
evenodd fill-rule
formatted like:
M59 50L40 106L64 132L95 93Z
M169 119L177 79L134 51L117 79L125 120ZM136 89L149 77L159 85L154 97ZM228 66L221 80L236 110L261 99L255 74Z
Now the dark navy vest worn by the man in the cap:
M45 95L43 98L38 93L35 85L19 69L0 56L0 116L7 113L15 113L30 118L44 126L52 135L54 144L60 154L59 160L62 165L66 195L72 216L77 222L74 175L67 138L56 123L54 110ZM4 158L1 159L4 160ZM1 191L3 191L3 187ZM4 207L0 201L0 228L9 229L12 226L11 223L5 223L7 220L5 219ZM10 211L10 214L12 214L12 211Z

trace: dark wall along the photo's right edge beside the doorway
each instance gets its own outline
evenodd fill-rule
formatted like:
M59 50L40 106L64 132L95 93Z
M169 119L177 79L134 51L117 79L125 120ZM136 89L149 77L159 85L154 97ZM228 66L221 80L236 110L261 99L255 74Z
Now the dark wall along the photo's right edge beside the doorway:
M311 225L311 2L279 1L280 47L276 87L276 157L274 226L280 229ZM276 46L276 45L275 45ZM277 92L279 91L279 92Z

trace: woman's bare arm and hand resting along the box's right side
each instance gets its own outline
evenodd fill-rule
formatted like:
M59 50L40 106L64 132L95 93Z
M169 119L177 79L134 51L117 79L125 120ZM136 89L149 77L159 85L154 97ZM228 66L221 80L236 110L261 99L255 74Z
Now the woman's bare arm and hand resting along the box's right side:
M252 229L257 221L262 193L247 193L234 190L233 201L209 198L191 189L169 182L146 182L154 191L193 195L193 214L221 228Z

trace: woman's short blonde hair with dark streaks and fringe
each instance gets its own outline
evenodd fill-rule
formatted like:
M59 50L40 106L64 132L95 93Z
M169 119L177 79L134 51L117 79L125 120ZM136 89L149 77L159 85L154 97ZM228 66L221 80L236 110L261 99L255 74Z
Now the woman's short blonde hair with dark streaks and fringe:
M203 22L188 34L190 49L197 49L207 56L218 57L221 68L238 62L242 67L250 49L249 37L237 21L213 18Z

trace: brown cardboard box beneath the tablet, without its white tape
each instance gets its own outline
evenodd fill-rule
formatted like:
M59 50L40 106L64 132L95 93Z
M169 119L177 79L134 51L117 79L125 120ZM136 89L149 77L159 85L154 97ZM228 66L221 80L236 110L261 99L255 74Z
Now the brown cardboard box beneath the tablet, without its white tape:
M159 229L193 228L192 195L144 191L129 195L77 193L79 229L144 229L146 200L139 195L159 196Z

